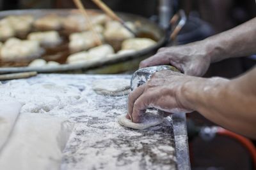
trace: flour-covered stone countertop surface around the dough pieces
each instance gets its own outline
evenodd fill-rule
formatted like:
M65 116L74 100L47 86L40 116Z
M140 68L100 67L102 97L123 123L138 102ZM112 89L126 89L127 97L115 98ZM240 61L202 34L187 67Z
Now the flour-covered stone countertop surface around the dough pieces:
M22 113L47 114L74 122L63 150L61 169L190 169L184 113L143 131L122 127L127 96L100 96L92 90L99 79L130 75L38 74L3 81L1 95L24 104ZM29 97L28 97L29 96Z

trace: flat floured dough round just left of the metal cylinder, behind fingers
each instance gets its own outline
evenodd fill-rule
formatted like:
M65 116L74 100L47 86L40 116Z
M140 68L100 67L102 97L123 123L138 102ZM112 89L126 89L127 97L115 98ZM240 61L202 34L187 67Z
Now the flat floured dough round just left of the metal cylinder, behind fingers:
M131 80L124 78L96 80L93 82L93 90L106 96L125 96L131 92L130 84Z

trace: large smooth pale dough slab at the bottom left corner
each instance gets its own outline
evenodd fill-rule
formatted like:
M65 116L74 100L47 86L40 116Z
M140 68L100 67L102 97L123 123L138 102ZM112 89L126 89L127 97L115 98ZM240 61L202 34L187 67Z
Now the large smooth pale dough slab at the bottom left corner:
M62 150L73 125L61 117L22 113L0 153L1 169L60 169Z

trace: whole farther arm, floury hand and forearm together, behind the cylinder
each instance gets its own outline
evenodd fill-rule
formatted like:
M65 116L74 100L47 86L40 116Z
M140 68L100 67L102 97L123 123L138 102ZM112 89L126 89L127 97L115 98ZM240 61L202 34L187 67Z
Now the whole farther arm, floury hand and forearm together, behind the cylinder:
M188 45L161 48L140 67L170 64L189 76L203 76L211 62L256 53L256 17L228 31Z

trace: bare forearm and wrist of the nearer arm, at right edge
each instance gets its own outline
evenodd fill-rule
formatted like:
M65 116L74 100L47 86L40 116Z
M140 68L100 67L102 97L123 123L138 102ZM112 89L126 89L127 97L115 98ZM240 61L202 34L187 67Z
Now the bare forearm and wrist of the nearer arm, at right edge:
M182 88L184 104L227 129L256 138L256 67L234 80L198 78Z

